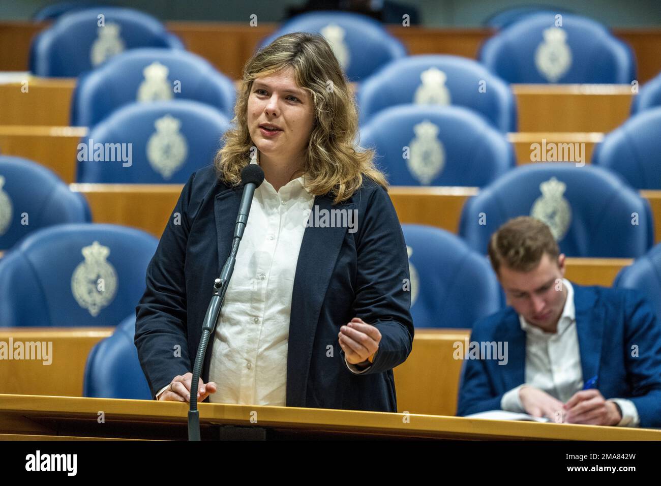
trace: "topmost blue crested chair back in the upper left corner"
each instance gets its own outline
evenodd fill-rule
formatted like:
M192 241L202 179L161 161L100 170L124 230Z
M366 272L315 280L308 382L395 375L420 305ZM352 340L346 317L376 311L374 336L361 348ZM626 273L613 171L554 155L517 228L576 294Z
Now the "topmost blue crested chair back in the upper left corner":
M104 15L98 26L98 15ZM98 7L62 15L32 40L30 71L44 77L77 77L127 49L183 49L157 19L133 9Z

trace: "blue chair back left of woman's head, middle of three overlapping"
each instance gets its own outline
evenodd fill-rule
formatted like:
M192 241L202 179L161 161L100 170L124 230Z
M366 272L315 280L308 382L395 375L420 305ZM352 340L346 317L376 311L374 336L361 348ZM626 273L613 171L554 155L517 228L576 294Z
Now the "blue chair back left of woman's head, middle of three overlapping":
M178 93L175 81L180 83ZM200 101L232 118L235 97L231 79L196 54L178 49L132 49L79 77L72 97L71 125L93 126L131 102L169 99Z

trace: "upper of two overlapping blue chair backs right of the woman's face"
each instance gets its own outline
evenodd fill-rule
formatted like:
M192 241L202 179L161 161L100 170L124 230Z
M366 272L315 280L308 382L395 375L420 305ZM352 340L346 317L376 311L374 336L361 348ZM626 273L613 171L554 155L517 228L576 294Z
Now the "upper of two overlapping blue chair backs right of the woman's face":
M369 77L358 91L361 124L383 108L414 103L416 98L420 104L471 108L498 130L516 132L516 105L508 83L472 59L433 54L392 61Z

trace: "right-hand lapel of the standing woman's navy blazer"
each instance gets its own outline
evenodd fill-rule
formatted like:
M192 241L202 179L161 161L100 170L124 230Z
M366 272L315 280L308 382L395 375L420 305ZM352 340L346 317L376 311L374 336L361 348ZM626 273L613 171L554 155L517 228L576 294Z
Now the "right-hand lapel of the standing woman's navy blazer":
M332 205L331 196L317 196L315 206L324 210L353 210L354 203ZM313 207L313 211L315 208ZM317 323L346 227L306 227L293 281L287 352L287 405L304 407Z

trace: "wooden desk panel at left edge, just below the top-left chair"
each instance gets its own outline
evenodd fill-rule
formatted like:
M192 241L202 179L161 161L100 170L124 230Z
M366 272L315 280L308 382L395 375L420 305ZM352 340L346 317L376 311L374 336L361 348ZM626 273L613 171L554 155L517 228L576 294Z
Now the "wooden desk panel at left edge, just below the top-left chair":
M27 81L27 93L21 91L21 83L0 84L0 125L68 126L75 79Z

